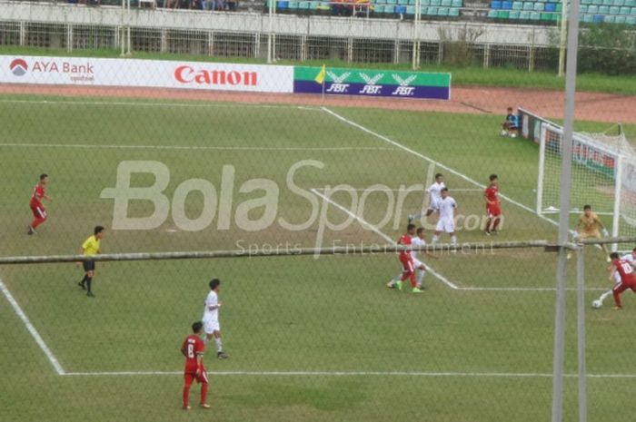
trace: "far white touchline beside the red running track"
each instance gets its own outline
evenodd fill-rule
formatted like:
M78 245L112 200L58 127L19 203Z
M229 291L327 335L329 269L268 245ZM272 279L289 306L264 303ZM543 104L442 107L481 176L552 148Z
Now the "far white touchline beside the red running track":
M304 105L285 105L285 104L263 104L263 103L150 103L150 102L125 102L125 101L48 101L48 100L0 100L0 103L25 103L40 105L115 105L124 107L183 107L183 108L228 108L228 107L244 107L244 108L279 108L279 109L295 109L303 111L320 111L320 107L309 107Z

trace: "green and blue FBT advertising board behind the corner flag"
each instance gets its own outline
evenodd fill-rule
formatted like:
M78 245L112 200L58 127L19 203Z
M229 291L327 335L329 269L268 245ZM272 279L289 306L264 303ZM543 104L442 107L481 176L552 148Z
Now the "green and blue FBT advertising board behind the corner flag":
M323 87L324 84L324 87ZM294 93L451 99L451 74L296 66Z

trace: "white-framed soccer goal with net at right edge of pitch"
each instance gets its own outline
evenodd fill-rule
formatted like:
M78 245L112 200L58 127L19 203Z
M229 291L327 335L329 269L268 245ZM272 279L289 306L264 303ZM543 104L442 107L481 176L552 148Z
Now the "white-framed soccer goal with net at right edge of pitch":
M616 127L616 126L614 126ZM542 123L537 180L538 214L558 214L562 128ZM571 213L590 204L611 222L612 236L636 235L636 153L617 134L575 132L572 139Z

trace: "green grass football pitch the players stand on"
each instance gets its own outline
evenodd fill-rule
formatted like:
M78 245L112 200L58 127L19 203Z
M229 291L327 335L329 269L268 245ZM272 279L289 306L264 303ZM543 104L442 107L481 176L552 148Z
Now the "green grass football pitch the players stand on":
M312 193L319 212L343 229L323 230L314 221L303 231L285 230L277 219L299 224L312 216L312 202L286 185L293 164L308 160L323 168L297 173L294 182L305 192L343 183L397 190L439 171L462 215L476 216L483 213L482 191L470 180L485 183L496 172L502 193L514 203L502 201L506 220L494 240L555 238L552 223L522 208L534 207L538 148L499 137L499 116L332 109L364 132L320 109L292 106L3 100L3 256L75 253L98 223L106 226L106 252L383 244L402 234L406 214L422 201L421 193L406 196L403 210L377 227L379 234ZM430 161L382 137L455 173L430 168ZM124 161L163 163L170 171L163 192L169 201L191 179L208 181L220 192L223 168L232 166L231 211L222 215L217 207L201 231L180 230L172 213L153 230L111 230L114 201L101 193L115 186ZM28 199L40 172L51 175L54 201L47 204L50 220L37 236L27 237ZM254 179L280 187L276 221L246 231L238 209L263 197L263 191L250 191ZM132 182L150 186L154 178L136 174ZM361 193L356 191L358 203ZM346 209L353 201L351 191L335 193L332 200ZM368 195L363 220L382 222L387 201L386 192ZM184 204L184 213L196 219L204 199L193 192ZM153 208L134 201L129 213L143 217ZM246 215L258 220L263 212L254 205ZM227 215L229 225L220 227ZM479 230L458 236L491 240ZM421 296L387 290L385 282L399 271L393 254L99 263L94 300L77 288L82 274L73 264L1 267L6 289L65 370L55 372L24 321L1 298L2 420L548 419L554 255L484 250L443 253L427 262L459 289L428 274ZM609 286L605 266L599 250L586 250L588 302ZM178 348L201 317L212 277L223 280L221 323L231 358L218 361L208 350L213 410L186 414L180 409ZM636 376L631 358L636 301L625 296L621 313L611 310L610 300L588 314L588 370L599 376L589 380L590 420L627 422L636 410L633 378L621 378ZM568 305L566 372L574 374L573 291ZM193 388L194 403L197 393ZM566 417L576 417L574 377L566 378Z

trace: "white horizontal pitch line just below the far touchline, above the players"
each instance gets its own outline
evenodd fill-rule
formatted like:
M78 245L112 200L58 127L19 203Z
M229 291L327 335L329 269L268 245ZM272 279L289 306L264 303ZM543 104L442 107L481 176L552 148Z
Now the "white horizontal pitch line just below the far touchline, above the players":
M399 151L388 147L260 147L260 146L188 146L188 145L92 145L90 143L0 143L11 148L68 148L84 150L184 150L184 151Z

